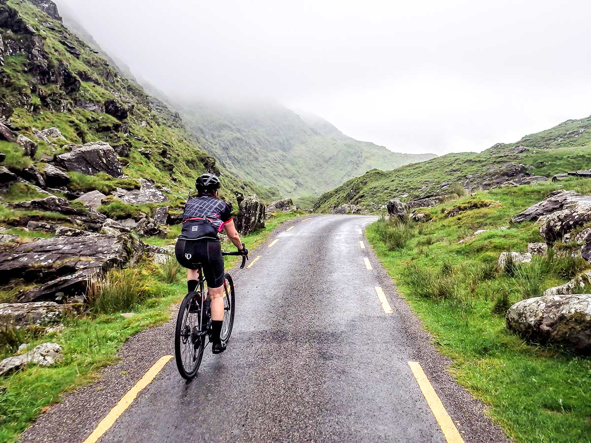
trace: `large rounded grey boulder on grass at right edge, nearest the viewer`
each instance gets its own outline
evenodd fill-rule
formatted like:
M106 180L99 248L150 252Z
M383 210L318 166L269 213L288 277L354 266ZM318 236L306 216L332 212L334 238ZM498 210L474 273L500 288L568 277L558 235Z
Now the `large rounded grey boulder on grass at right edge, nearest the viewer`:
M509 308L505 318L509 330L525 340L591 353L591 294L528 298Z

